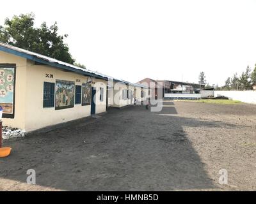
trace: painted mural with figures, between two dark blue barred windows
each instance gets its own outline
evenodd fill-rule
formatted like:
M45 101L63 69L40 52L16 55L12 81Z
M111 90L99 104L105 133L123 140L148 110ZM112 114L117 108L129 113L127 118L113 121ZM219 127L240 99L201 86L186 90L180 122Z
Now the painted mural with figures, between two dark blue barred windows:
M55 109L74 107L75 82L56 80Z

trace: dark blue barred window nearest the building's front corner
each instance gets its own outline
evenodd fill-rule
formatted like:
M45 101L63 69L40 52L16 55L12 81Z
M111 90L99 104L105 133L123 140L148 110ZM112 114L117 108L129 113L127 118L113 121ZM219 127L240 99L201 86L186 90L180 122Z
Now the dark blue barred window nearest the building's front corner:
M55 83L44 82L44 108L54 107Z

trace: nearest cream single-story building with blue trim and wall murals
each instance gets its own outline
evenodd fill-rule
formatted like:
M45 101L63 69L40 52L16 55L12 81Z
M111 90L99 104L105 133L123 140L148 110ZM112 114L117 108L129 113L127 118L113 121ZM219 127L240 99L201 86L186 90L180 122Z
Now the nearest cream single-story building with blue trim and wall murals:
M106 112L115 106L112 81L117 80L0 42L4 126L28 132Z

